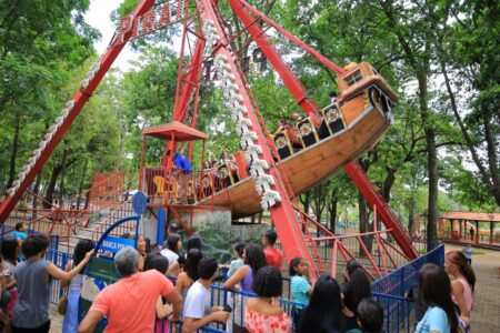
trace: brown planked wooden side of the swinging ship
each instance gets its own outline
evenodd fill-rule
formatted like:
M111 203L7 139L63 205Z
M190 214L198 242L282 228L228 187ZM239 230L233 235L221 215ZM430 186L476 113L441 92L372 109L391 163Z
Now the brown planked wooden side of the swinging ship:
M383 112L370 104L366 93L343 103L341 112L348 124L344 130L281 161L294 194L302 193L358 159L389 129ZM204 199L200 204L230 206L233 219L262 211L253 178L241 180Z

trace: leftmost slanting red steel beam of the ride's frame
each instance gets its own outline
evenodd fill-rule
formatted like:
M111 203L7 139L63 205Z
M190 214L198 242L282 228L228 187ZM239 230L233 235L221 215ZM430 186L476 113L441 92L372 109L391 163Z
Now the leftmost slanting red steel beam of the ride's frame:
M146 13L152 6L154 4L154 0L141 0L141 2L137 6L136 10L132 13L132 17L136 18L138 16L141 16ZM120 29L120 28L118 28ZM117 29L117 31L118 31ZM117 59L118 54L120 54L121 50L124 48L127 41L132 37L133 29L130 29L130 31L126 32L123 34L123 43L113 43L102 56L100 59L100 68L91 78L89 81L89 84L87 85L87 89L80 90L77 95L73 99L74 107L69 112L68 117L64 119L64 121L61 123L61 125L58 128L56 133L53 134L52 139L47 143L46 148L41 152L40 157L34 162L33 167L28 171L24 179L21 181L18 190L16 193L13 193L12 196L7 196L6 200L0 205L0 224L3 224L7 221L7 218L9 216L12 209L16 206L18 201L21 199L22 194L24 194L24 191L28 189L28 186L31 184L31 182L34 180L37 174L40 172L40 170L43 168L46 162L49 160L50 155L54 151L56 147L61 142L64 134L70 129L71 124L73 123L74 119L80 113L81 109L84 107L89 98L92 95L93 91L104 77L104 74L108 72L111 64Z

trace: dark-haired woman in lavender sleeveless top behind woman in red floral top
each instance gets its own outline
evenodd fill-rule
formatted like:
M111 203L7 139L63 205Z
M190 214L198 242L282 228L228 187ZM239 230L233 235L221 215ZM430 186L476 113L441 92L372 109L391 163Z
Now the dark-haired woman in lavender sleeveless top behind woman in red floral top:
M240 290L253 293L253 278L257 272L268 264L266 255L261 246L256 244L248 244L243 251L244 265L239 268L224 283L227 290ZM244 306L242 297L234 295L233 309L231 313L231 322L234 323L234 332L242 332L242 309Z

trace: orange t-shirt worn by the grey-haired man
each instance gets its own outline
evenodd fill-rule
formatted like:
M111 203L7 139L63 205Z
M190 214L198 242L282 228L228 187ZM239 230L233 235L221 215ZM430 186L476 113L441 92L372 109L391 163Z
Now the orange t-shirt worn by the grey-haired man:
M160 272L139 272L104 287L89 311L108 316L106 333L151 333L158 296L167 296L172 291L172 282Z

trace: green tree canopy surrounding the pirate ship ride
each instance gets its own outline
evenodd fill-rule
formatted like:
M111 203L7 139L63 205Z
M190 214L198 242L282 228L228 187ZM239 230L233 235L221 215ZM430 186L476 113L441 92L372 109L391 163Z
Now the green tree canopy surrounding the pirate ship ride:
M113 12L118 23L137 0ZM222 1L220 1L222 2ZM361 159L399 218L413 228L422 212L436 223L446 210L497 211L500 206L500 4L494 1L250 1L271 19L340 65L369 61L398 92L396 123ZM227 3L229 31L242 28ZM30 151L53 122L62 103L97 54L100 37L83 20L84 1L0 3L0 190L6 191ZM179 27L133 42L140 59L128 72L110 71L40 173L50 201L90 186L94 172L124 170L137 178L141 131L172 118ZM319 105L337 90L334 73L287 42L270 39ZM234 48L249 41L247 33ZM249 49L254 48L251 43ZM244 56L249 54L247 49ZM270 65L253 69L249 83L273 130L278 119L300 111ZM201 89L198 128L210 132L209 155L236 151L238 137L221 92ZM159 163L163 145L148 145L148 163ZM200 148L194 159L199 165ZM301 196L331 229L339 219L364 220L369 208L339 172ZM349 208L349 209L342 209ZM360 226L361 228L361 226ZM430 239L436 236L430 228Z

